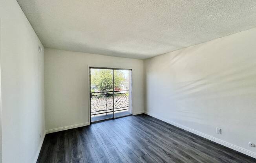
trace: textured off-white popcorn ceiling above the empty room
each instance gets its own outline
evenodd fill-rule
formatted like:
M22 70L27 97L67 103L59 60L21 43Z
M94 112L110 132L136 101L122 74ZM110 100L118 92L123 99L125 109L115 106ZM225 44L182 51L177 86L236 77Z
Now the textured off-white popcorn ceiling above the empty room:
M256 27L256 0L18 0L45 47L145 59Z

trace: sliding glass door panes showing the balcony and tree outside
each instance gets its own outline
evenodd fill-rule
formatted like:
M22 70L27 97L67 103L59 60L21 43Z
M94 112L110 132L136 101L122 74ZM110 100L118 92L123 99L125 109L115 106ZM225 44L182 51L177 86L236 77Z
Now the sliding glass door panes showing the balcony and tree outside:
M91 122L132 114L132 70L90 67Z

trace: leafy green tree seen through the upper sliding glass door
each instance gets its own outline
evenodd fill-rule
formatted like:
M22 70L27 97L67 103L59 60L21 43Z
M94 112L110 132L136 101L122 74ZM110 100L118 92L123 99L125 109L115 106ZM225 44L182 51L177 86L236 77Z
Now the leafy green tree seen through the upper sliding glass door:
M98 91L112 91L113 77L112 70L100 69L91 74L91 84L97 87ZM121 89L122 82L125 81L124 74L121 71L114 72L114 90Z

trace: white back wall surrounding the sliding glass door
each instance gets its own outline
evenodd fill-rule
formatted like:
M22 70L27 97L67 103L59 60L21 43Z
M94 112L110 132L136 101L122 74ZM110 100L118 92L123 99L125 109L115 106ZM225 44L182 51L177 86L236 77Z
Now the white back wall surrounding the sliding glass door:
M88 125L88 65L132 69L133 114L144 111L143 60L45 48L47 132Z

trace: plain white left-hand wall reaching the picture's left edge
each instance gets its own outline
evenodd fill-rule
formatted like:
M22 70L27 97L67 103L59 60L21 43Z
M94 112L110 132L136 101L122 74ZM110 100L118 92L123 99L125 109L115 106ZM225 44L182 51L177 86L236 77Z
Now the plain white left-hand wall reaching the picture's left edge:
M16 0L0 1L0 19L3 163L34 163L45 132L44 52Z

